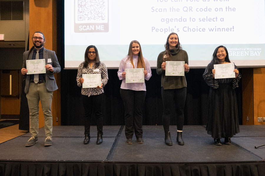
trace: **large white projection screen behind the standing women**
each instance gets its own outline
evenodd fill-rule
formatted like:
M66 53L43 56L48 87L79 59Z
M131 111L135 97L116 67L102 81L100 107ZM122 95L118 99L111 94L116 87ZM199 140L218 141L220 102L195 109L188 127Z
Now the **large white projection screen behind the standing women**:
M119 67L132 40L156 67L171 32L178 34L190 67L206 67L219 45L239 67L264 67L264 9L264 0L67 0L65 68L77 68L89 45L108 68Z

